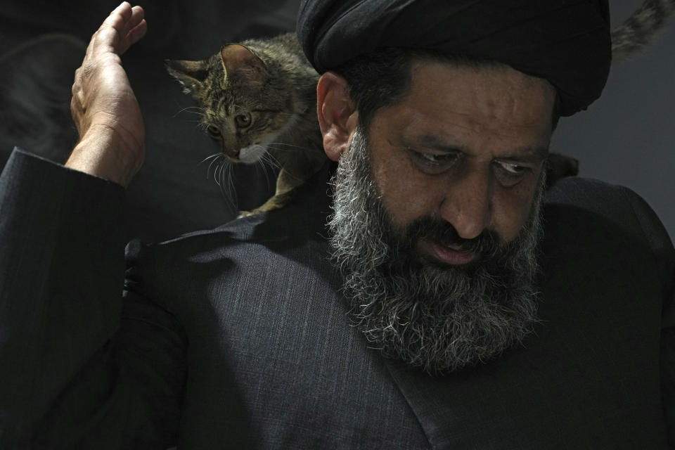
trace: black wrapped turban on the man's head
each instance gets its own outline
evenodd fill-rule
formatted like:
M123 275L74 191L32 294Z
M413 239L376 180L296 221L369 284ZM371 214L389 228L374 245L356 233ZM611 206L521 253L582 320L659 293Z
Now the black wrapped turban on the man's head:
M612 58L608 0L302 0L297 35L319 72L383 47L496 60L548 79L562 115L600 96Z

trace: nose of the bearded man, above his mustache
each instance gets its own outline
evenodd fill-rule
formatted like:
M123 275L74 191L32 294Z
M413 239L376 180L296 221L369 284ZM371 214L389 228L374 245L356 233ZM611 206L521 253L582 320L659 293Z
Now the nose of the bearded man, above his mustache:
M473 170L454 178L449 181L440 215L454 226L459 237L476 238L490 225L492 191L489 172Z

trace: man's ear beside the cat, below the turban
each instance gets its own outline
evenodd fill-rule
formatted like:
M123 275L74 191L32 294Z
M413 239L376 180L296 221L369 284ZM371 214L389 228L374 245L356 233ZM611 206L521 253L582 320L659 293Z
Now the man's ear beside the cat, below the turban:
M323 135L323 150L330 160L337 161L349 148L359 122L359 113L344 77L335 72L321 75L316 85L316 115Z

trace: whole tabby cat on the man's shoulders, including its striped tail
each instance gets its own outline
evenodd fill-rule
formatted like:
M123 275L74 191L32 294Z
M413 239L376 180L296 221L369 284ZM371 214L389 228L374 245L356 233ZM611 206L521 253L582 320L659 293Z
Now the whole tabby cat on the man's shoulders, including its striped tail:
M612 57L626 58L653 39L675 0L647 0L612 30ZM169 73L203 109L207 133L221 144L229 162L257 162L269 153L282 169L276 193L255 214L288 202L295 188L326 160L316 119L316 82L294 33L272 39L250 39L224 46L202 61L167 60ZM576 175L574 158L551 153L548 184Z

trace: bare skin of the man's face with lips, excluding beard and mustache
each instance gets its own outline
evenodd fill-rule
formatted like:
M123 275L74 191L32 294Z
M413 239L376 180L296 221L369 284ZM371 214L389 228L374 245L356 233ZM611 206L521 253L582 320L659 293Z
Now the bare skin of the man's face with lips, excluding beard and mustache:
M409 95L373 117L373 178L394 225L437 217L472 239L510 241L532 206L551 139L555 91L506 66L416 63ZM420 243L444 264L473 255Z

